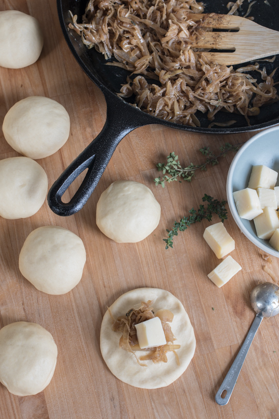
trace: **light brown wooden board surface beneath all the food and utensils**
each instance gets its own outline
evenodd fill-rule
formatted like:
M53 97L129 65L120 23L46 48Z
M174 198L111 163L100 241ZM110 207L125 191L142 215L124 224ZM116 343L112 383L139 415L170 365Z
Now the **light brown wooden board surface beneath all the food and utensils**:
M71 118L67 143L54 155L38 160L51 185L100 132L106 103L66 46L55 0L2 0L0 10L6 9L37 17L45 45L34 65L21 70L0 68L0 124L12 105L31 95L58 101ZM163 162L171 151L179 155L183 165L198 164L203 162L199 148L210 146L218 153L225 142L244 142L253 134L207 136L155 125L138 128L122 140L93 195L75 216L59 217L45 203L30 218L0 219L1 327L18 320L33 321L50 331L58 346L57 367L44 392L17 397L0 384L2 419L279 417L278 316L263 321L229 404L221 407L214 400L255 315L249 303L250 291L261 281L272 281L263 271L266 261L259 249L240 233L229 214L225 226L236 242L231 255L242 271L219 289L207 278L220 262L202 238L207 221L180 233L173 249L165 250L162 241L165 229L187 210L197 208L204 193L226 198L226 176L233 153L223 157L219 166L197 173L192 183L175 182L163 189L153 181L156 163ZM0 158L16 155L1 130ZM161 204L158 228L140 243L117 244L96 227L98 198L117 179L145 183ZM74 190L72 187L72 195ZM87 251L81 282L63 296L37 291L18 269L18 255L27 235L50 224L78 234ZM269 269L277 275L279 260L273 257ZM197 341L186 372L167 388L152 391L133 388L115 378L99 349L100 325L107 306L122 293L143 286L164 288L182 301Z

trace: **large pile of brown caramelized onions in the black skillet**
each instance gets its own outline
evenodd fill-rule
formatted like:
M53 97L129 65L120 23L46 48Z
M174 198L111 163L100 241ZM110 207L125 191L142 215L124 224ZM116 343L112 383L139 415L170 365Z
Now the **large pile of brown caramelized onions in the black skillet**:
M243 1L229 3L228 13L237 14ZM189 13L202 12L202 3L196 0L90 0L82 23L72 15L69 27L88 48L117 59L108 65L138 74L127 80L119 95L134 95L136 106L144 112L199 126L197 111L207 112L213 121L223 110L244 115L249 124L248 117L256 109L278 99L274 72L268 76L258 64L234 71L191 48L191 36L210 30L201 28L202 21L188 18ZM247 71L258 71L263 82L257 84ZM156 84L146 78L155 79Z

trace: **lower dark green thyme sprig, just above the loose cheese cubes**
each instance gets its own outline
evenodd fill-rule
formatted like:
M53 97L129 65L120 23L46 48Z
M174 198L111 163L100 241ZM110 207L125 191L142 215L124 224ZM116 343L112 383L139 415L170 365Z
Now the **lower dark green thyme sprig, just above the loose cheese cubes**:
M173 237L177 236L179 231L187 230L189 225L194 224L195 222L200 222L204 218L208 221L211 221L213 214L217 214L222 222L224 222L224 220L228 218L228 212L225 207L227 201L223 200L220 202L217 199L214 199L206 194L204 194L204 197L202 197L202 201L208 202L206 208L202 204L200 204L199 209L197 211L194 208L192 208L189 211L189 217L183 217L179 222L175 221L172 230L167 230L168 238L163 239L166 243L166 249L168 249L169 247L172 248Z

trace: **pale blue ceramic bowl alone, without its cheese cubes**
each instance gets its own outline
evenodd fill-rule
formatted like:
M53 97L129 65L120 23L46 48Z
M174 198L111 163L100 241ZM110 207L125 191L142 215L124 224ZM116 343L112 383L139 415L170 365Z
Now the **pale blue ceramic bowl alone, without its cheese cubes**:
M279 172L278 125L261 131L237 151L232 160L227 177L227 199L232 216L241 232L266 253L279 257L279 252L270 246L268 240L262 240L257 237L254 221L239 217L233 200L233 192L247 188L252 167L256 165L265 165ZM276 186L278 185L279 176Z

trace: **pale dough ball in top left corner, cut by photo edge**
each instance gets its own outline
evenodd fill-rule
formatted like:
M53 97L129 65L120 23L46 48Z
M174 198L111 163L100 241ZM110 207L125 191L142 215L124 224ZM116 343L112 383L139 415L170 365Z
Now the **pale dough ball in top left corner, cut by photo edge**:
M17 10L0 12L0 66L21 69L39 58L43 48L39 22Z

